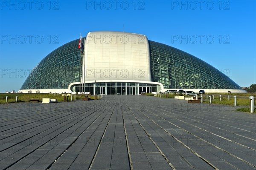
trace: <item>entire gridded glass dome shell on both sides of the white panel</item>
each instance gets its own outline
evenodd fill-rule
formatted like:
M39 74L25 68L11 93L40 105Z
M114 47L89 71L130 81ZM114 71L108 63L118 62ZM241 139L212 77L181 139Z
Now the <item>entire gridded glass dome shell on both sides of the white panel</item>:
M166 89L241 89L208 63L174 47L149 40L152 81ZM30 73L21 89L67 89L80 81L79 39L47 55Z

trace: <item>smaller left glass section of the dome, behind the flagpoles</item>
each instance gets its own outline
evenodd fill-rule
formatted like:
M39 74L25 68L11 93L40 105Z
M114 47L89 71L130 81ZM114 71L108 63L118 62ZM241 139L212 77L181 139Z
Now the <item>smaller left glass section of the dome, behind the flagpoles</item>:
M21 89L67 89L80 81L79 39L55 49L30 73Z

